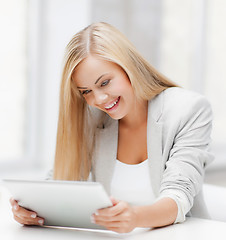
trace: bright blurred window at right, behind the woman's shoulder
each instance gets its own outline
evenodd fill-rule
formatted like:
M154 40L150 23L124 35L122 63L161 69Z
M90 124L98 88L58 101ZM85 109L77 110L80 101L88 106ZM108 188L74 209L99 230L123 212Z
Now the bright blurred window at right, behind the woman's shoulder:
M159 68L179 85L204 94L213 109L214 164L226 156L226 2L162 1Z

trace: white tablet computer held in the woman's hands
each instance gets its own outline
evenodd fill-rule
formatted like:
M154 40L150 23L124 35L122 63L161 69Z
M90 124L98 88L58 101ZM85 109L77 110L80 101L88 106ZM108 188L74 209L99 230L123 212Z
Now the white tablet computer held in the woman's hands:
M3 184L20 206L43 217L46 226L104 229L90 217L97 209L112 206L97 182L4 179Z

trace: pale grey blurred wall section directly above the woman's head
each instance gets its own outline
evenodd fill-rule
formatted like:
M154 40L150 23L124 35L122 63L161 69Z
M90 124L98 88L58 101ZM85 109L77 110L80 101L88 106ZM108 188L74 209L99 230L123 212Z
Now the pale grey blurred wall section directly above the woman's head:
M94 0L92 21L104 21L123 32L143 56L159 65L162 1Z

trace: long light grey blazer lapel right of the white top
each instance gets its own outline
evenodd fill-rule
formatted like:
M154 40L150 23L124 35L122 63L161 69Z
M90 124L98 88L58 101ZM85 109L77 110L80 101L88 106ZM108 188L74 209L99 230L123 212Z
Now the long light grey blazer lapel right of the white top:
M150 178L153 192L159 196L159 189L162 180L162 124L158 122L162 113L162 94L149 102L148 106L148 127L147 127L147 148L150 169Z

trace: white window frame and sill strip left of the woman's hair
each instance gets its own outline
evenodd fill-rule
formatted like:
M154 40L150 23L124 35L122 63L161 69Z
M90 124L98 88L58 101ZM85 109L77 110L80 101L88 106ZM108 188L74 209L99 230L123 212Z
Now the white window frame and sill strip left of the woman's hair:
M90 23L90 8L90 0L28 1L27 114L21 129L25 151L17 159L3 159L0 176L52 167L64 49L71 37ZM9 119L17 121L12 117Z

